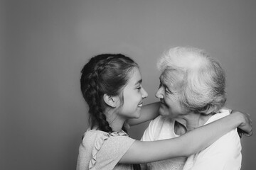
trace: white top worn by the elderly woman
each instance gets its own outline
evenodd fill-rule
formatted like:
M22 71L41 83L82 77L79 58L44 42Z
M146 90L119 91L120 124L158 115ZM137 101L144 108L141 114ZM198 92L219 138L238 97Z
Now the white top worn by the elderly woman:
M229 115L228 110L221 110L209 118L206 124ZM206 125L205 124L205 125ZM203 135L203 134L202 134ZM158 137L159 136L159 137ZM177 137L174 133L174 121L168 120L162 116L152 120L149 127L145 130L142 140L163 140ZM240 138L236 129L231 130L223 137L220 137L212 145L197 154L193 154L186 160L186 164L181 166L169 165L172 159L162 162L152 162L149 164L150 169L183 169L183 170L237 170L241 168ZM167 163L166 163L167 162ZM163 164L163 165L161 165ZM174 167L176 166L176 167Z

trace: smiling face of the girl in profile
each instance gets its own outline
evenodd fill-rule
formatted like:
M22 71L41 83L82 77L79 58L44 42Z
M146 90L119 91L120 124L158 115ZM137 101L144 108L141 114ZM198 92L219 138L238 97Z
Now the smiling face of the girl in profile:
M130 72L128 84L123 89L123 104L119 115L128 118L139 118L142 109L142 100L148 94L142 87L142 75L137 67Z

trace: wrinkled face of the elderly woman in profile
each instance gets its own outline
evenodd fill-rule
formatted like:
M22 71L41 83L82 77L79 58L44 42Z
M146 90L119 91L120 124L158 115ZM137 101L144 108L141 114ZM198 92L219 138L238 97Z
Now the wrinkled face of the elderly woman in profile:
M156 97L161 101L160 115L178 118L188 113L179 101L182 80L183 74L173 69L165 69L161 74L159 89L156 92Z

